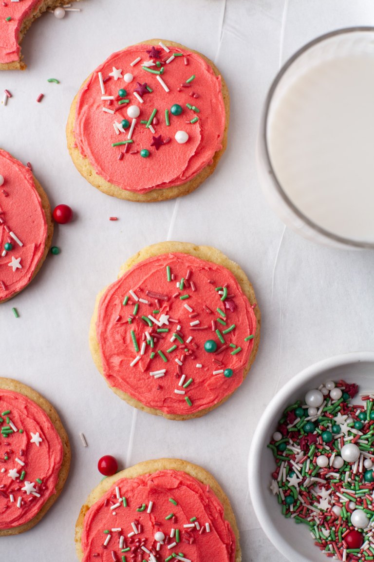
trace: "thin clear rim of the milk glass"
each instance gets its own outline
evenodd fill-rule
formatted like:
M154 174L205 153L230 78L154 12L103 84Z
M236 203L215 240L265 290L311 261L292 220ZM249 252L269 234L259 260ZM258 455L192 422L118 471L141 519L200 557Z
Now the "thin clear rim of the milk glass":
M340 236L339 234L334 234L333 232L330 232L329 230L326 230L322 226L319 226L317 223L315 223L314 221L309 219L306 215L304 215L303 212L301 210L299 210L298 207L290 200L287 193L281 187L281 184L278 181L278 178L275 174L273 164L271 163L270 152L269 152L269 147L268 147L268 143L267 143L267 122L268 122L268 117L269 117L270 105L271 105L271 102L273 101L273 96L274 96L275 90L278 87L278 84L280 83L280 80L283 78L285 72L287 72L287 70L289 69L289 67L292 66L292 64L301 55L303 55L303 53L305 53L306 51L308 51L310 48L314 47L318 43L322 43L327 39L336 37L337 35L344 35L344 34L354 33L354 32L357 33L357 31L371 31L373 33L374 32L374 26L353 26L353 27L349 27L349 28L341 28L341 29L336 29L334 31L329 31L329 33L319 35L315 39L312 39L310 42L306 43L303 47L298 49L298 51L296 51L291 57L288 58L288 60L281 66L280 70L277 72L277 74L276 74L276 76L275 76L273 82L271 83L270 88L267 92L264 108L262 110L262 119L261 119L261 123L260 123L260 134L259 134L258 138L259 138L259 140L261 142L261 146L262 146L261 152L262 152L262 155L264 156L264 159L265 159L264 164L265 164L266 170L267 170L270 178L273 180L274 188L276 189L276 191L278 192L280 197L283 199L283 201L288 205L289 209L291 209L295 213L295 215L298 216L299 219L301 219L304 223L306 223L308 226L310 226L310 228L312 228L312 230L315 230L315 232L324 235L325 237L327 237L328 239L330 239L334 242L338 242L340 244L344 244L345 246L350 246L350 247L353 246L353 247L357 247L357 248L374 248L374 242L352 240L350 238L345 238L343 236Z

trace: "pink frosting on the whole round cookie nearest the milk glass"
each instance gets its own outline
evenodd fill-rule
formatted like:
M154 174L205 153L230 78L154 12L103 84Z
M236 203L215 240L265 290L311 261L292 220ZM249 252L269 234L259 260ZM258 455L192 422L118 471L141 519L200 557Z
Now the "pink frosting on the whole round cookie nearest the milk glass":
M220 76L214 75L203 58L186 49L173 47L166 53L157 45L156 48L159 49L161 58L150 59L146 52L151 49L149 45L136 45L114 53L91 74L77 98L74 136L81 155L89 159L96 173L105 180L137 193L180 185L192 179L211 162L215 152L221 149L225 128ZM173 53L182 53L183 56L164 64L161 78L170 90L165 92L156 75L142 69L142 63L150 60L165 61ZM140 62L130 66L138 57L141 58ZM185 60L187 65L184 64ZM132 82L126 83L123 78L115 80L113 76L109 76L113 67L121 69L122 76L130 72L133 75ZM150 68L159 70L157 66ZM114 96L114 101L101 100L98 72L101 72L104 80L109 76L104 84L105 95ZM192 75L195 75L195 79L186 84L186 80ZM146 83L153 90L141 96L143 103L134 96L137 83ZM119 89L126 89L124 99L130 100L128 104L119 105ZM197 97L192 97L192 94ZM179 116L170 113L170 125L167 126L165 110L170 111L170 107L176 103L182 106L183 112ZM200 112L187 108L187 103L197 107ZM127 115L127 107L131 105L140 108L140 115L133 130L133 143L126 148L122 160L118 160L120 153L125 151L125 146L112 147L112 143L127 140L129 129L116 134L113 124L115 121L121 124L123 119L131 123L132 119ZM103 108L114 110L114 115L103 111ZM158 111L153 134L140 121L148 120L154 108ZM198 117L198 121L191 124L190 121L195 117ZM189 135L184 144L179 144L174 138L179 130ZM156 150L151 144L153 137L159 135L161 140L170 138L170 142ZM141 149L147 149L150 156L142 158ZM132 154L132 151L137 153Z

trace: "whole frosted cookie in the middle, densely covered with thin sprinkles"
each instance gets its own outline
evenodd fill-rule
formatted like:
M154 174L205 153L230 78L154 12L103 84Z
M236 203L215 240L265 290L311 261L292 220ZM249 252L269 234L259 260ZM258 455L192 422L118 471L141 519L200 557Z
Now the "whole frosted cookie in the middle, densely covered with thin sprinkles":
M132 406L183 420L222 404L255 360L260 310L241 268L209 246L163 242L124 264L91 321L93 357Z

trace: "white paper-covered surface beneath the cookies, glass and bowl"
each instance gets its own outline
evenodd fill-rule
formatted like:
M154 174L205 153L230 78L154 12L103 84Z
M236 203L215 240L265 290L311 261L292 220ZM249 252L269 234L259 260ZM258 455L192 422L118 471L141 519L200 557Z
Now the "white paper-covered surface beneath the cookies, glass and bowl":
M35 281L0 310L1 374L30 384L56 406L72 446L61 497L32 531L1 539L1 559L73 562L80 506L99 482L99 457L113 454L122 467L160 456L201 464L232 501L243 561L284 562L248 497L251 436L271 396L299 370L335 353L374 349L374 252L330 250L285 229L262 196L255 139L280 63L321 33L374 25L374 4L83 0L80 7L63 20L47 13L35 22L23 44L27 70L0 74L0 92L13 94L0 106L0 145L33 164L52 207L67 203L75 211L73 223L56 228L62 253L49 256ZM86 76L110 53L152 37L181 42L218 65L230 90L231 121L227 152L204 185L177 201L141 205L105 196L81 178L64 126ZM61 84L49 84L51 77ZM156 418L119 400L87 343L96 293L138 248L164 239L211 244L238 261L262 311L260 350L246 382L219 409L189 422Z

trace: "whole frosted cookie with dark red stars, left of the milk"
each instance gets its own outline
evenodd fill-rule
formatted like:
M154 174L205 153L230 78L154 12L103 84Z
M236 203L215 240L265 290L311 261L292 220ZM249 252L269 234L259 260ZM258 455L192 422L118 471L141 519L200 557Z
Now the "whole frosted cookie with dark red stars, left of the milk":
M82 176L108 195L161 201L186 195L227 143L229 94L213 62L153 39L111 55L85 80L67 124Z

